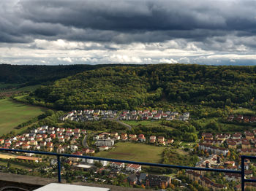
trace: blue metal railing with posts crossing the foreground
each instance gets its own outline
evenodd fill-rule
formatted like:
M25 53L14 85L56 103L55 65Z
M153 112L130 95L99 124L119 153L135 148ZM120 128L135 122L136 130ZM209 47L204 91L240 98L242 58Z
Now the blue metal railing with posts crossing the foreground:
M157 163L143 163L143 162L136 162L130 160L117 160L117 159L110 159L110 158L103 158L103 157L91 157L91 156L81 156L81 155L69 155L63 153L56 153L56 152L40 152L40 151L31 151L31 150L23 150L23 149L4 149L0 148L0 151L6 152L26 152L26 153L34 153L39 155L52 155L57 157L57 164L58 164L58 181L61 182L61 160L60 157L78 157L84 159L93 159L93 160L105 160L109 162L118 162L118 163L129 163L129 164L136 164L136 165L150 165L150 166L157 166L163 168L178 168L178 169L187 169L187 170L194 170L194 171L212 171L212 172L219 172L219 173L233 173L233 174L241 174L241 190L244 191L245 182L256 182L256 179L244 179L244 160L245 159L252 159L255 160L256 156L245 156L241 155L241 171L233 171L233 170L225 170L225 169L214 169L214 168L197 168L191 166L184 166L184 165L165 165L165 164L157 164Z

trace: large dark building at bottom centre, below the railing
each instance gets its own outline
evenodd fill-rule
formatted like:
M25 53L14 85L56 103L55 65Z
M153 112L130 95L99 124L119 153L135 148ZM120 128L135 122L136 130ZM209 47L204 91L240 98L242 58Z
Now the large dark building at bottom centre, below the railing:
M147 187L167 187L168 185L170 185L169 176L148 175L146 177Z

